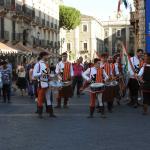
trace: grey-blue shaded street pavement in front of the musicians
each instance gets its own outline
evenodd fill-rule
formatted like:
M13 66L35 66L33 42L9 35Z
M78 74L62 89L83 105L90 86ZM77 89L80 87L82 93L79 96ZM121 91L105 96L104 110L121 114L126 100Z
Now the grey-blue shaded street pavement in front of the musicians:
M37 118L28 97L0 103L0 150L149 150L150 115L122 102L102 119L88 119L88 95L70 100L69 109L54 110L57 118Z

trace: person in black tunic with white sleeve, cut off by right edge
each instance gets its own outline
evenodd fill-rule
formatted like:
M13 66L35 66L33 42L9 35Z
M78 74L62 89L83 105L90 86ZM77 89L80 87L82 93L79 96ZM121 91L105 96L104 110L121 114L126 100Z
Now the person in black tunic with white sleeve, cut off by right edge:
M147 115L150 105L150 54L145 54L145 63L138 74L143 84L143 115Z

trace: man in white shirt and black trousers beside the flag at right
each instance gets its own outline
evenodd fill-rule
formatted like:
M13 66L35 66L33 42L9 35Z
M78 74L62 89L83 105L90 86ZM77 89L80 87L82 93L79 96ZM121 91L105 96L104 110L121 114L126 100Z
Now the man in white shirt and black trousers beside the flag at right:
M130 58L131 64L129 64L129 92L131 101L128 103L129 106L134 106L134 108L138 107L138 91L139 91L139 81L137 79L137 75L140 71L140 60L143 55L143 50L138 49L135 56Z

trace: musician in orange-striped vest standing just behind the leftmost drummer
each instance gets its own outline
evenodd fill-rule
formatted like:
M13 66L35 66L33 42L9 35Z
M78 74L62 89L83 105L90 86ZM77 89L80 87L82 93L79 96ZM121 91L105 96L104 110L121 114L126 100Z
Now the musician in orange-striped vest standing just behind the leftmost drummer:
M67 53L62 54L62 61L60 61L56 65L55 72L58 75L60 81L62 82L69 81L71 83L71 80L74 76L74 72L73 72L72 64L69 61L67 61L67 56L68 56ZM72 96L73 96L73 90L71 84L62 87L62 89L59 90L56 108L61 108L62 98L64 98L64 108L68 108L68 100Z

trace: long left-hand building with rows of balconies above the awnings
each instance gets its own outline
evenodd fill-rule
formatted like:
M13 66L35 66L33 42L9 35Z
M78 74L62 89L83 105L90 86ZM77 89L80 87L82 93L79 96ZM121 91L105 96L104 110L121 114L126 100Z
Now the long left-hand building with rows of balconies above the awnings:
M59 55L60 0L0 0L0 42L24 53Z

